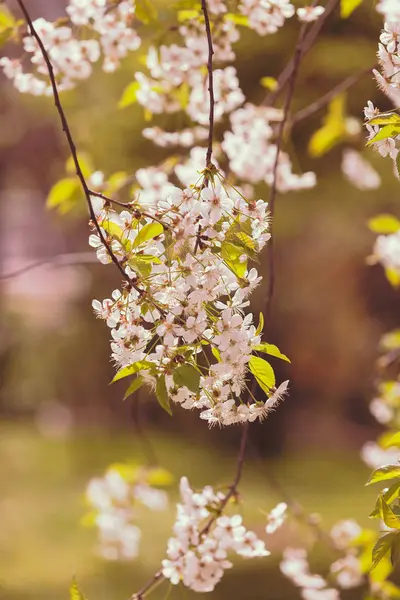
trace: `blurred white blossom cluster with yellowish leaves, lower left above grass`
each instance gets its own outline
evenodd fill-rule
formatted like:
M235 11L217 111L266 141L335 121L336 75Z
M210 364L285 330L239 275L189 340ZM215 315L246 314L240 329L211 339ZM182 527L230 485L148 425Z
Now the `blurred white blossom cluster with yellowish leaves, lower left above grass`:
M97 527L99 553L103 558L135 558L141 536L135 524L138 506L146 506L153 511L167 508L166 493L150 485L154 475L157 475L156 470L115 465L101 479L89 482L86 502L91 512L84 521Z

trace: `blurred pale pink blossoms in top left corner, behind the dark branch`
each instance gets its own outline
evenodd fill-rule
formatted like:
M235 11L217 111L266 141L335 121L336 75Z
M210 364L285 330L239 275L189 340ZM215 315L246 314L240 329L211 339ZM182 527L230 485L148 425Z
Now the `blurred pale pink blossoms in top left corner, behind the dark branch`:
M104 57L103 69L114 71L129 51L140 46L140 38L132 28L135 15L133 2L124 0L109 10L106 0L71 0L66 11L72 26L43 18L33 22L50 58L60 91L87 79L92 73L92 64L101 54ZM74 26L86 27L91 37L78 39ZM25 72L20 60L4 57L0 59L0 66L5 75L22 93L51 95L46 77L47 66L36 40L27 36L23 46L30 56L33 72Z

